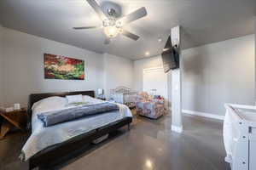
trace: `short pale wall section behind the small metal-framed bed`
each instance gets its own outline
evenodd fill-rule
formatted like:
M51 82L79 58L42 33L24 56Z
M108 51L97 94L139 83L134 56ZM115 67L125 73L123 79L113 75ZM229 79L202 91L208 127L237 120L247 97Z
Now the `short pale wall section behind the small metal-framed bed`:
M119 86L133 88L133 61L111 54L104 54L104 90L107 99L110 89Z

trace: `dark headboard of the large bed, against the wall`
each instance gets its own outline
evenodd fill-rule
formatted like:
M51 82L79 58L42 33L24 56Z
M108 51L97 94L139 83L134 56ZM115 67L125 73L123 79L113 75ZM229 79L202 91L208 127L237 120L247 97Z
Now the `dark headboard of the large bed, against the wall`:
M30 94L28 98L28 105L27 105L27 127L31 129L31 118L32 118L32 105L38 102L41 99L49 98L52 96L60 96L65 97L67 95L89 95L90 97L95 97L95 92L93 90L90 91L78 91L78 92L61 92L61 93L50 93L50 94Z

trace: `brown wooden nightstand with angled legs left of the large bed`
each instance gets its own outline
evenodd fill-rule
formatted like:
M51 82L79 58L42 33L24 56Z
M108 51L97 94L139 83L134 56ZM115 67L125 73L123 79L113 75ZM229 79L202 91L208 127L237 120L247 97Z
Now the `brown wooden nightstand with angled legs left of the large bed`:
M20 109L19 111L11 111L1 113L3 122L0 131L0 139L3 139L6 133L8 133L11 127L17 127L22 132L26 132L26 109Z

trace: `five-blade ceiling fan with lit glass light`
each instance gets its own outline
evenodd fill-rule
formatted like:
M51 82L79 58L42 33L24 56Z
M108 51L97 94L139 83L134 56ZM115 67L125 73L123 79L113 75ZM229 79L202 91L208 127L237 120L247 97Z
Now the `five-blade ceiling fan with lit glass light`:
M111 38L116 37L119 34L125 37L129 37L135 41L139 39L139 36L137 36L136 34L133 34L130 31L125 31L123 26L131 23L132 21L138 20L146 16L147 10L145 7L138 8L133 13L127 14L124 17L117 20L115 17L116 10L114 8L107 9L107 14L109 15L107 16L106 14L104 14L104 12L102 11L102 8L99 6L98 3L96 3L95 0L86 0L86 1L96 11L96 14L98 14L100 19L102 20L102 26L81 26L81 27L73 27L73 29L84 30L84 29L103 28L104 33L107 36L104 42L105 44L109 44L111 41Z

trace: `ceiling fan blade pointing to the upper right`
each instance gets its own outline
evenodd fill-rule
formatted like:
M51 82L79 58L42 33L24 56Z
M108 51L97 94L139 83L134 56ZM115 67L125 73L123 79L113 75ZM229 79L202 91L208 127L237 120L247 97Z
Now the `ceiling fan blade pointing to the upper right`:
M136 11L134 11L131 14L125 15L123 18L121 18L119 21L124 24L128 24L134 20L138 20L140 18L143 18L147 15L147 10L145 7L138 8Z

